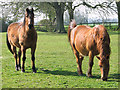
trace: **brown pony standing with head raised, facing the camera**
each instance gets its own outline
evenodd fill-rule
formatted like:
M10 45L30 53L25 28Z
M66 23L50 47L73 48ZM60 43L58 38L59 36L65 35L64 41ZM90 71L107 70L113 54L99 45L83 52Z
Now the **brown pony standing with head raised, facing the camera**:
M16 70L21 69L20 57L22 55L22 72L25 72L26 49L31 48L32 69L35 69L35 49L37 42L37 33L34 28L33 8L26 9L23 23L12 23L7 29L7 46L15 58ZM16 47L19 48L18 60Z

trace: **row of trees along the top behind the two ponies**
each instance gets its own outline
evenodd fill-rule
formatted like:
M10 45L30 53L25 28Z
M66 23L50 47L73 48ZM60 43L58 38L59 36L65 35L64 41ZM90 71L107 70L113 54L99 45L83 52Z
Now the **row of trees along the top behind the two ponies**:
M114 3L116 3L116 5L114 5ZM104 2L96 3L88 2L88 0L78 0L75 5L73 4L74 2L1 2L3 17L5 18L4 20L7 20L8 23L11 21L18 21L22 18L26 7L33 7L38 16L41 13L44 13L46 14L46 17L49 18L50 22L56 21L55 32L64 33L66 32L64 28L64 12L68 10L69 21L71 21L71 19L74 19L75 9L83 5L90 10L98 10L105 14L117 13L118 27L120 27L119 0L104 0ZM7 15L6 12L8 12Z

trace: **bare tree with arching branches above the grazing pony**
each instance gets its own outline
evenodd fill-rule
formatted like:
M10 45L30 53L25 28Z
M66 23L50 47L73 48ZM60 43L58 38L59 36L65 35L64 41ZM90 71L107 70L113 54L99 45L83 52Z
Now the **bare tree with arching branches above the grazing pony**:
M67 9L69 12L70 20L74 18L73 12L76 9L76 7L79 7L81 5L86 6L89 8L89 11L97 11L97 12L102 12L106 15L109 15L110 13L117 12L115 5L113 5L114 0L106 0L104 2L97 2L93 4L93 2L88 2L87 0L81 0L77 5L73 6L73 2L68 2L67 4ZM120 9L119 9L120 10ZM87 12L88 13L88 12Z

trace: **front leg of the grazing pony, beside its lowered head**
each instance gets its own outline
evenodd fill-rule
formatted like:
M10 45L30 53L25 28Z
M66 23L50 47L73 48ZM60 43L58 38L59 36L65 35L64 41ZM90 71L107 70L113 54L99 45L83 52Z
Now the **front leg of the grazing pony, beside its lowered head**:
M92 53L92 51L89 52L89 69L88 69L88 73L87 76L88 77L92 77L92 66L93 66L93 59L94 59L94 55Z

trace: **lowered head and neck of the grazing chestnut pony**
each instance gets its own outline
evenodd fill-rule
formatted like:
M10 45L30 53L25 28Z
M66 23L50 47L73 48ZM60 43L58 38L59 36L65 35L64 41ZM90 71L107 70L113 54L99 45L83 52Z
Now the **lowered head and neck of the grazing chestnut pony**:
M100 47L100 56L96 56L99 59L99 66L101 70L101 79L107 81L109 73L109 57L110 57L110 38L107 33L107 30L104 26L99 26L99 47Z

